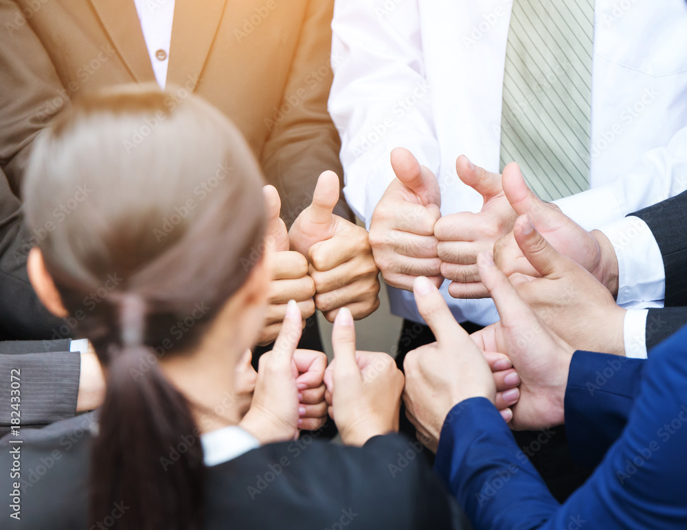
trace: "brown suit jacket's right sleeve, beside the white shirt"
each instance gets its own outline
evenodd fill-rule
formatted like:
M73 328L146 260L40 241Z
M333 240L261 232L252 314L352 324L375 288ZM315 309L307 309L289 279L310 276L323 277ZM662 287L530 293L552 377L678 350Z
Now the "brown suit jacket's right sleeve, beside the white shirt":
M267 177L280 192L281 217L287 228L310 205L317 177L325 170L339 175L343 187L339 133L327 111L332 84L331 19L333 0L308 3L291 63L279 115L265 116L269 137L260 155ZM352 220L343 193L335 214Z

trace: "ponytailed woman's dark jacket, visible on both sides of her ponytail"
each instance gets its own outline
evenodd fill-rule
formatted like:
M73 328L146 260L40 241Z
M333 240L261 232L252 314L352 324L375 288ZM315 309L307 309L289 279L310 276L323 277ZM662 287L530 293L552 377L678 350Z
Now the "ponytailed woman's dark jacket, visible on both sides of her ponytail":
M21 521L31 530L83 528L93 414L21 432ZM306 435L274 443L209 467L205 487L208 530L425 529L451 527L449 497L420 454L418 442L375 437L363 448ZM12 439L0 441L0 466L12 466ZM422 450L425 451L425 450ZM0 481L10 498L12 481ZM7 520L10 505L0 517Z

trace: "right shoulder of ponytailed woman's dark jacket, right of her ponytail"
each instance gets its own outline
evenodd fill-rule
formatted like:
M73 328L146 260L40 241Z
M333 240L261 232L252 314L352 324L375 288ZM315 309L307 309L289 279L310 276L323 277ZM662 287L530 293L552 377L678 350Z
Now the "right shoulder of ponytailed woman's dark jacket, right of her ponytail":
M450 528L447 492L420 448L399 435L363 448L266 445L210 469L208 528Z

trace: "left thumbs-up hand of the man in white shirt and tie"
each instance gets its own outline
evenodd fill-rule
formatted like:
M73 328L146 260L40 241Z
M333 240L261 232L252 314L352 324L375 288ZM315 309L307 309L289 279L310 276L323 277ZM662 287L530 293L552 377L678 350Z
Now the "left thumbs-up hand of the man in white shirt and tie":
M391 153L396 179L374 208L370 245L374 263L388 285L412 290L416 276L429 276L440 286L440 260L434 224L441 217L439 183L404 148Z

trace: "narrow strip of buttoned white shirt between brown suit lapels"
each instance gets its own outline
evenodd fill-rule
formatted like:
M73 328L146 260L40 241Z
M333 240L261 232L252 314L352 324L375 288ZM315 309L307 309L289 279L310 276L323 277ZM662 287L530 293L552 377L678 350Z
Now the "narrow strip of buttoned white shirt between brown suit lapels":
M150 64L153 65L155 80L164 90L170 63L174 0L134 0L134 3L146 40Z

